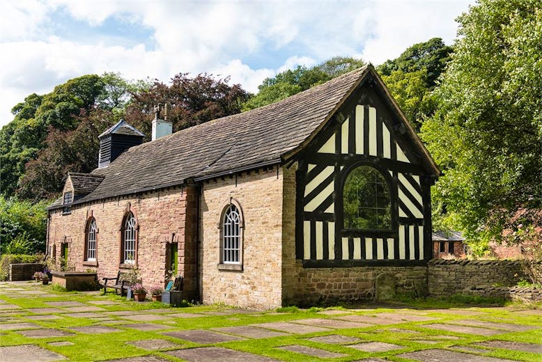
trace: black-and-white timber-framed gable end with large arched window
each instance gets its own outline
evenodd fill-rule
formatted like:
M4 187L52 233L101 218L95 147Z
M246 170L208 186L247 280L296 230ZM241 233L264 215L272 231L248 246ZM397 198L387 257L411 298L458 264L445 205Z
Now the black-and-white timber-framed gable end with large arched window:
M370 67L293 159L304 267L423 265L440 173Z

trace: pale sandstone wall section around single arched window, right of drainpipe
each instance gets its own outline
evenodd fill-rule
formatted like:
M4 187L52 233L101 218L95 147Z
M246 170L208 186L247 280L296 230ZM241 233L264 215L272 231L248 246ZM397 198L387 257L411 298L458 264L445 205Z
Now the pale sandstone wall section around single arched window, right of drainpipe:
M282 178L281 169L272 167L203 182L199 260L204 303L281 306ZM244 219L239 271L219 269L221 215L231 198Z

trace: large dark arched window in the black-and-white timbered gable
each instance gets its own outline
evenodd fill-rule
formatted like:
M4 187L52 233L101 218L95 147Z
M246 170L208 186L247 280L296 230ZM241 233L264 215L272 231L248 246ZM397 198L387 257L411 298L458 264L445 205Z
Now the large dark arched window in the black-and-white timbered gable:
M384 175L371 166L348 174L343 187L345 229L392 229L392 196Z

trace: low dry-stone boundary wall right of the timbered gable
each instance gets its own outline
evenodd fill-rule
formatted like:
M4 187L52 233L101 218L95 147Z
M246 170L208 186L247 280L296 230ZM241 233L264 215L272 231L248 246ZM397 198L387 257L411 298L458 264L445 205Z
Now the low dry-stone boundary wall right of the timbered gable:
M443 260L428 263L428 288L433 296L461 293L481 285L509 287L525 278L517 260Z

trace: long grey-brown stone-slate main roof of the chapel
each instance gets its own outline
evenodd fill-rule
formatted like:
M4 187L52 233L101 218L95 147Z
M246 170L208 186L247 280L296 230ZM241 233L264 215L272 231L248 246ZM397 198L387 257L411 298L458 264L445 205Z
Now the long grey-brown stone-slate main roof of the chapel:
M77 203L277 164L312 139L369 72L379 79L367 65L274 104L134 146L94 170L104 180ZM415 140L424 148L416 135Z

